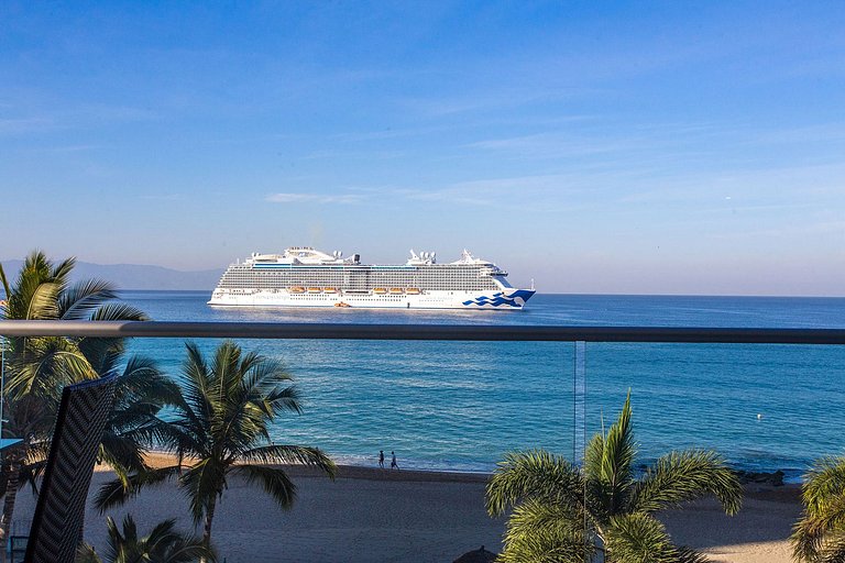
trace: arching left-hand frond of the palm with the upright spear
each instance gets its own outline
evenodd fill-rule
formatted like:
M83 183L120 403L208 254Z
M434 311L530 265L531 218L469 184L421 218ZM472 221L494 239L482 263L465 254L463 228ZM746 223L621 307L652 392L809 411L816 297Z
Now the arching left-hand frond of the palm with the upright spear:
M487 484L486 507L491 516L503 514L524 498L553 499L582 506L584 479L578 467L544 450L512 452L498 463Z

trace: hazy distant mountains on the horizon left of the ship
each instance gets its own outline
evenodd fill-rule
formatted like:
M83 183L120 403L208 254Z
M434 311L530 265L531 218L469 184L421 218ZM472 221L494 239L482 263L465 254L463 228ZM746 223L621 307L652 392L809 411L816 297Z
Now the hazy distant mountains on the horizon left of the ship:
M3 269L13 283L21 269L22 261L2 261ZM77 262L72 278L99 278L114 284L118 289L202 289L211 291L220 280L222 269L180 272L162 266L138 264L91 264Z

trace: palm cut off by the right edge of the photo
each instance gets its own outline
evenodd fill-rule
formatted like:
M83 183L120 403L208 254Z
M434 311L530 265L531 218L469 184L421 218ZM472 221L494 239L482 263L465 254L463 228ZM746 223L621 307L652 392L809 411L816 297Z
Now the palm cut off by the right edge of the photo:
M792 554L809 563L845 562L845 457L825 457L804 475L804 511L792 533Z

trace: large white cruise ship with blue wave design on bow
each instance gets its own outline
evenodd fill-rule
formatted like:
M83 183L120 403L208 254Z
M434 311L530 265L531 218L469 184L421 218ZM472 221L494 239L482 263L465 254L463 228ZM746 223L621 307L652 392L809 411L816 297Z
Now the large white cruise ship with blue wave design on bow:
M531 283L534 286L534 283ZM416 253L405 264L362 264L310 246L283 254L259 254L229 266L209 305L249 307L360 307L370 309L518 310L535 294L507 282L507 272L463 251L438 264L434 252Z

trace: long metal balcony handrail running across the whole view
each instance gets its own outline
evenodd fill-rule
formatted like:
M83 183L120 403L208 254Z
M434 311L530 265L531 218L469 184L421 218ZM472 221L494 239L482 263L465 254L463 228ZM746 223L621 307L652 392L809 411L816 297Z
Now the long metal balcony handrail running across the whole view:
M173 321L0 321L0 336L845 344L845 329Z

